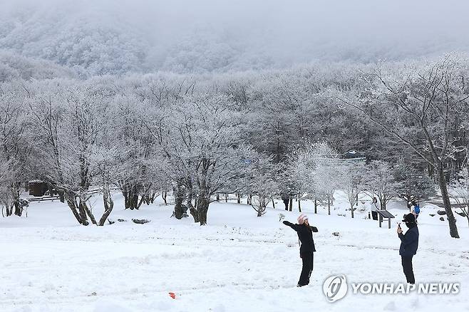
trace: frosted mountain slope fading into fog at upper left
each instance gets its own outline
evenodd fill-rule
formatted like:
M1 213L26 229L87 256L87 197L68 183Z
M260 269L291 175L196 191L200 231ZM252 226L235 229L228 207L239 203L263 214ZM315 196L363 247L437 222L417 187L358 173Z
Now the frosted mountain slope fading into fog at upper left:
M8 16L0 22L0 46L91 75L141 71L148 47L135 30L85 13L51 9Z

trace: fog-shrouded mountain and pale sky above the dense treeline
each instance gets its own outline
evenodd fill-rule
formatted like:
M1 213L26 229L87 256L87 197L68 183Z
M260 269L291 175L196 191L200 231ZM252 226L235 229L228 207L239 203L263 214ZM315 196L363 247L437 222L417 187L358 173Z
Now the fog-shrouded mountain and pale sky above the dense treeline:
M468 11L463 0L1 0L0 47L86 76L367 63L468 51Z

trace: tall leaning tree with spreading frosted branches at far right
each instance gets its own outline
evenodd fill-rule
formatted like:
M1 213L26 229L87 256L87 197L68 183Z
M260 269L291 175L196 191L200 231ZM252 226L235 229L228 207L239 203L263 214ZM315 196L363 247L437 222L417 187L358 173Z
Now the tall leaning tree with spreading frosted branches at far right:
M459 238L459 234L448 196L445 166L465 149L452 128L452 121L468 112L465 62L456 56L445 56L423 65L386 64L363 76L362 88L357 84L351 92L354 97L341 99L428 164L438 181L450 236L454 238Z

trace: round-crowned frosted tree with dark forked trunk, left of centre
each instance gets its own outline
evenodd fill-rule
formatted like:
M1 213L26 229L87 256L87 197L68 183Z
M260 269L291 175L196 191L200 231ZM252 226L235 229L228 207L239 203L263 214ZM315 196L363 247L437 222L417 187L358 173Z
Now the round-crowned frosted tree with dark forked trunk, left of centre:
M187 96L168 109L168 118L148 121L148 128L160 144L174 182L197 194L190 213L195 222L205 225L212 195L239 175L244 155L240 114L230 110L225 96L210 94Z

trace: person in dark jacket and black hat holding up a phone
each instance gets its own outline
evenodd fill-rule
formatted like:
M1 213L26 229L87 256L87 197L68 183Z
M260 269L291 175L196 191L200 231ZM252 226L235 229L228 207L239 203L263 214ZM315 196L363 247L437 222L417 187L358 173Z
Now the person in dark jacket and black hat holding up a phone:
M418 249L418 227L416 217L413 214L405 214L402 222L406 223L408 230L402 234L401 224L398 225L397 234L401 239L399 254L402 259L402 269L406 275L409 284L416 284L416 278L413 276L412 258Z

